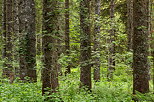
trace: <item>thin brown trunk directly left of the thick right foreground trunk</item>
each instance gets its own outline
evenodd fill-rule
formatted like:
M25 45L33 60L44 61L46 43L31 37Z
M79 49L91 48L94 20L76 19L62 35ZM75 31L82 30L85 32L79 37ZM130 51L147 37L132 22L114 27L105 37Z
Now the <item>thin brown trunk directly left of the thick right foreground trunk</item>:
M128 37L128 51L132 49L133 38L133 0L127 0L127 37Z

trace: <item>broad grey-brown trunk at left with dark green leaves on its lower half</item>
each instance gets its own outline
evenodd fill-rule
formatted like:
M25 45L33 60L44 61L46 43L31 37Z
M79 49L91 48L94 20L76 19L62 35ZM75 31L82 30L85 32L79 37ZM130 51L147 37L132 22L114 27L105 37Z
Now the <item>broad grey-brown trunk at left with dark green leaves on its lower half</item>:
M35 4L34 0L19 2L19 65L20 78L30 77L37 81L36 76L36 39L35 39Z

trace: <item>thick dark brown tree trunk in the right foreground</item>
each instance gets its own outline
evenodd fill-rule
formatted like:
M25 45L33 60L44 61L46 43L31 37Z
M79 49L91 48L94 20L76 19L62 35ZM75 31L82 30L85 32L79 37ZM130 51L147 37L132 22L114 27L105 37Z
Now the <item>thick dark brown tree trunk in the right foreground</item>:
M149 0L134 0L133 15L133 93L146 93L149 92Z

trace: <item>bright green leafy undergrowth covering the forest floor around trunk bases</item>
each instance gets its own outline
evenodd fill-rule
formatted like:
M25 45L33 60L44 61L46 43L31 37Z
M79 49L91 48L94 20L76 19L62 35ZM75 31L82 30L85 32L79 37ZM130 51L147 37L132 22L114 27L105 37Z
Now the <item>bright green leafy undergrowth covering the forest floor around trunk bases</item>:
M60 76L59 92L51 95L54 102L133 102L131 76L115 75L112 82L102 77L100 82L93 82L92 92L79 88L79 70L67 76ZM152 82L150 84L152 86ZM152 88L152 87L151 87ZM15 80L9 84L7 79L0 81L0 102L45 102L47 96L41 94L41 82L20 83ZM49 97L49 96L48 96ZM60 98L59 98L60 97ZM154 94L137 94L140 102L154 102ZM51 102L51 101L48 101Z

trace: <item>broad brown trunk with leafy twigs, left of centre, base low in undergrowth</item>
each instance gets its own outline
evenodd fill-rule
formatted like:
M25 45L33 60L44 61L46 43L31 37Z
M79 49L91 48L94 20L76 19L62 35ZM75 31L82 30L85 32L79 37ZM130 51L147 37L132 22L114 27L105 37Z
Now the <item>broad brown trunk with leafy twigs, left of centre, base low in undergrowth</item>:
M43 63L42 71L42 94L49 91L46 88L51 88L53 92L59 86L58 70L57 70L57 39L58 32L58 1L43 0Z

